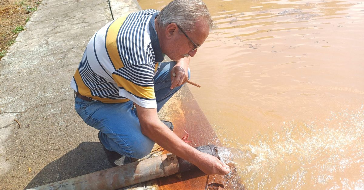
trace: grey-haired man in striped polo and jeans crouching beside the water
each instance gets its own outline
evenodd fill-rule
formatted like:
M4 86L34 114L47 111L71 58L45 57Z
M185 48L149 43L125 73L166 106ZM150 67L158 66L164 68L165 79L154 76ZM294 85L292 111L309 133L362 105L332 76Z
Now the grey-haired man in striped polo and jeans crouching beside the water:
M71 81L75 109L100 130L113 166L149 154L154 142L206 174L229 167L178 138L157 112L189 78L189 56L214 27L201 0L174 0L111 21L92 36ZM167 55L175 62L162 62ZM134 109L136 108L136 109Z

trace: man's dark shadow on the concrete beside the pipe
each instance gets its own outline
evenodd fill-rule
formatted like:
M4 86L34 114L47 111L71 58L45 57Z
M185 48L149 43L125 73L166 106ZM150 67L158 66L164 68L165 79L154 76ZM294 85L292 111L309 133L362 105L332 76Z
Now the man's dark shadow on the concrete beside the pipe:
M25 189L74 178L110 167L112 166L107 161L102 145L99 142L82 142L75 149L45 166Z

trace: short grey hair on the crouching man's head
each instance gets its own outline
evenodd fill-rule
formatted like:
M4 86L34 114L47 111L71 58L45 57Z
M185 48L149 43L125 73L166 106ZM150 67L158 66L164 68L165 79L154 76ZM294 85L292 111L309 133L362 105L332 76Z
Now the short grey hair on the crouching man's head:
M201 0L174 0L163 8L157 17L161 28L175 23L188 32L195 31L195 23L199 20L205 20L210 29L215 28L214 20Z

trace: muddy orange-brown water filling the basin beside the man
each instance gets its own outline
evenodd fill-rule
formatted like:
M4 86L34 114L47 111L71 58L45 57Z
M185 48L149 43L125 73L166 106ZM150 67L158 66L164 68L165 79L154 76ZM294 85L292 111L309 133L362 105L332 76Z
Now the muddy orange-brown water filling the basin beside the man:
M202 87L189 87L241 182L364 189L364 3L205 3L218 28L191 60Z

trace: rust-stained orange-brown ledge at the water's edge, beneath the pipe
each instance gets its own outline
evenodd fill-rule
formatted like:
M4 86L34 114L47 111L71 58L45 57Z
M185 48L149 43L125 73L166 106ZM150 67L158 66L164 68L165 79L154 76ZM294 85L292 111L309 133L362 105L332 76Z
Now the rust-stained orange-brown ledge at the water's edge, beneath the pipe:
M205 114L197 104L191 91L184 86L168 106L169 117L174 125L174 133L178 137L186 136L189 133L188 141L193 147L214 144L219 146L216 136ZM171 111L173 110L173 111ZM164 152L166 153L166 151ZM159 189L221 189L225 179L221 175L205 175L201 170L194 169L182 174L171 175L157 179Z

